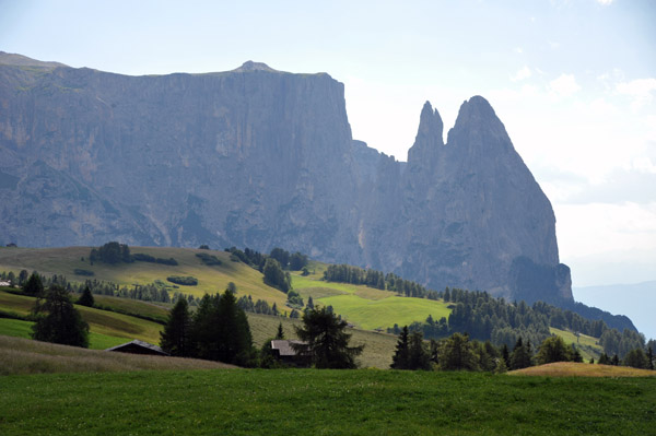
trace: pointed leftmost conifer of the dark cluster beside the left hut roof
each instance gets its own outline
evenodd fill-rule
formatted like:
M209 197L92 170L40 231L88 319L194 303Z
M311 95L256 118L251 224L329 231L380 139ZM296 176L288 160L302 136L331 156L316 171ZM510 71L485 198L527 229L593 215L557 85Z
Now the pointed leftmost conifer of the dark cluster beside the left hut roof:
M160 346L172 356L194 355L191 315L185 298L179 298L171 309L164 331L160 332Z

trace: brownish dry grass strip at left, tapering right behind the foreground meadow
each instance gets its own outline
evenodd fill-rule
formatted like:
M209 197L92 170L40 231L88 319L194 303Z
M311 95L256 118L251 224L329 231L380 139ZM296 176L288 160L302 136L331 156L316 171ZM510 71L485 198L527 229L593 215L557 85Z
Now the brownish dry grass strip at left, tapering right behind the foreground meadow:
M0 322L3 320L0 319ZM195 358L142 356L0 335L0 376L37 373L98 373L141 369L234 368ZM1 385L1 384L0 384ZM1 431L0 419L0 434Z

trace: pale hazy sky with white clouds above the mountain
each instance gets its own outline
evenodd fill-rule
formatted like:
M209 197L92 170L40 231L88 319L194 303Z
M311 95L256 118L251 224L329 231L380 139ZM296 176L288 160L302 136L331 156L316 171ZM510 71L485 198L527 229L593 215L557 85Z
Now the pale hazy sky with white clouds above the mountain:
M2 1L0 50L125 74L330 73L406 160L429 99L490 101L553 204L574 286L656 280L656 1ZM445 131L445 137L446 137Z

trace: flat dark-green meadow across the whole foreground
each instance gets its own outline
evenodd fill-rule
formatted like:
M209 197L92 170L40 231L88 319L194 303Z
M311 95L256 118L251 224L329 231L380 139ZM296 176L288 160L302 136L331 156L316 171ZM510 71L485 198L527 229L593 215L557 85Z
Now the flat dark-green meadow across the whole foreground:
M647 435L656 378L382 370L5 376L0 434Z

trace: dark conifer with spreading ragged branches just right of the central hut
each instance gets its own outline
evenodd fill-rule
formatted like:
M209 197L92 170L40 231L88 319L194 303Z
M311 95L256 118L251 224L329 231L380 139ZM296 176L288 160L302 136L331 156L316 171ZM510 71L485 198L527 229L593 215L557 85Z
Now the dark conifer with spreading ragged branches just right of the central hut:
M356 368L355 357L364 345L349 346L351 334L344 330L347 321L338 320L325 307L307 310L303 327L294 327L302 343L292 344L296 353L307 356L317 368Z

